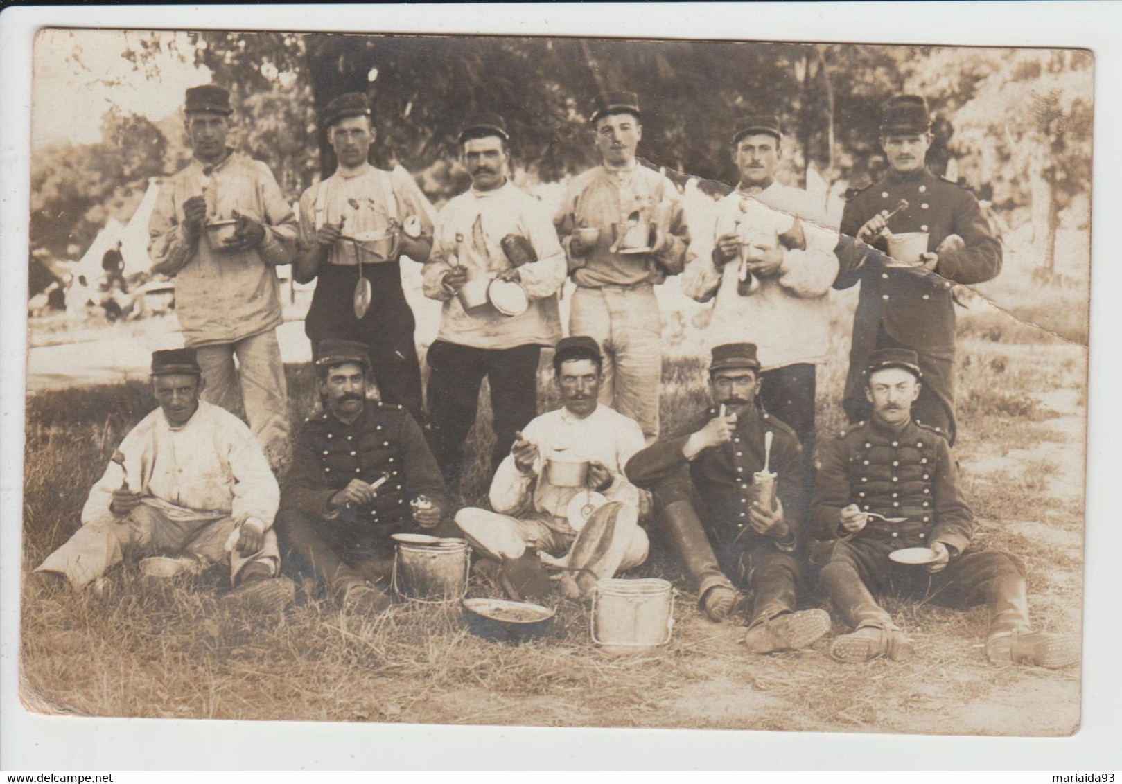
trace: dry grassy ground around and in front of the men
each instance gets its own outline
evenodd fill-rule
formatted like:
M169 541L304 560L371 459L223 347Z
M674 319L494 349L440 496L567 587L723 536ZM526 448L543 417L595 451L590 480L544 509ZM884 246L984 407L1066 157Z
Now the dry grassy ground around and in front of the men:
M1034 624L1077 631L1086 294L1082 286L1041 294L1011 267L1003 305L1012 296L1026 312L1074 315L1060 336L985 303L959 312L956 454L978 517L975 546L1022 556ZM852 307L852 292L837 298L836 350L819 368L824 435L842 424ZM697 324L668 332L665 432L707 399L700 353ZM301 366L287 373L289 413L301 423L315 405L312 371ZM541 389L542 409L553 407L544 377ZM25 568L73 533L90 485L151 405L141 384L29 399ZM486 453L488 416L480 411L470 440ZM463 500L475 502L486 485L477 463ZM1067 735L1078 726L1079 671L991 666L978 647L982 609L890 599L918 646L903 664L836 664L825 640L813 651L760 657L738 645L743 629L697 611L680 570L657 550L632 573L654 574L673 578L681 590L673 639L656 655L618 660L591 645L587 609L561 599L553 600L552 638L511 647L471 636L456 608L398 605L357 620L310 601L267 621L231 617L214 590L220 569L154 585L126 566L100 596L43 598L25 587L22 698L44 712L177 718L982 735ZM476 596L491 591L471 585Z

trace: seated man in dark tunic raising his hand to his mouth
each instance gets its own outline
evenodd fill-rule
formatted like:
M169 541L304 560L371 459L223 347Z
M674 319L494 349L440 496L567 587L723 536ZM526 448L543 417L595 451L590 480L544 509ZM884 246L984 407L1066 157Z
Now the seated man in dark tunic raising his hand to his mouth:
M659 523L697 582L711 620L725 620L737 603L726 577L732 574L753 594L744 638L748 649L808 647L829 631L830 619L824 610L795 611L807 508L799 439L755 405L760 362L754 343L714 348L709 385L715 405L690 419L683 434L632 458L627 476L654 490ZM762 476L765 465L774 472L770 479ZM766 481L774 482L773 507L754 497Z

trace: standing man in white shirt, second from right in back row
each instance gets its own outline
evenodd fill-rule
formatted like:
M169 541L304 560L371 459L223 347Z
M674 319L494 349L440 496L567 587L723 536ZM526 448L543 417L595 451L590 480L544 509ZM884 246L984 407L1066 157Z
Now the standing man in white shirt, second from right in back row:
M815 488L815 381L829 350L828 294L837 277L837 232L806 191L775 182L783 135L779 118L747 117L733 136L736 191L717 205L712 232L695 231L695 258L682 290L716 297L709 340L758 347L763 408L802 444L802 485Z

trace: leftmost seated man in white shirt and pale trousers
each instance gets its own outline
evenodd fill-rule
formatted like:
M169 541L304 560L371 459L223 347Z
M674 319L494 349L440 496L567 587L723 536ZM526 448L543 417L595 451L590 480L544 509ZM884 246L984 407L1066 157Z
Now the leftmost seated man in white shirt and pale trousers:
M82 527L35 570L43 582L82 590L127 556L162 554L200 568L229 561L237 603L292 601L292 581L276 577L276 479L245 423L200 399L203 385L194 349L153 354L159 408L125 436Z

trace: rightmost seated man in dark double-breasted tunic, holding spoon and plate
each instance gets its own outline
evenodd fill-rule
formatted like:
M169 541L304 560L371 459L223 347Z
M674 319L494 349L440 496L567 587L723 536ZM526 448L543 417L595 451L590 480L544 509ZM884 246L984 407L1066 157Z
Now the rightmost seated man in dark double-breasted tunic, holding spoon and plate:
M819 582L854 631L836 638L839 662L880 656L902 661L912 640L877 606L872 591L929 596L945 607L986 605L985 653L995 664L1061 667L1078 662L1074 636L1031 631L1024 564L1006 553L966 552L974 517L958 485L947 440L911 418L920 394L919 359L908 349L880 349L865 369L868 422L826 444L811 522L836 537ZM929 547L927 565L893 564L904 547Z

